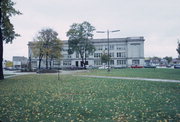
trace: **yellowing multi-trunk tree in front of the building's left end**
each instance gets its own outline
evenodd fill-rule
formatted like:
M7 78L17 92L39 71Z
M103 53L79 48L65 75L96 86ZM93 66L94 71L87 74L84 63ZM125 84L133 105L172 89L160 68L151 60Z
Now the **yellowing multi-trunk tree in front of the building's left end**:
M48 69L48 62L50 61L51 66L51 61L61 56L63 44L57 36L57 32L48 28L42 29L34 38L32 51L34 56L39 57L39 69L43 57L46 59L46 69Z

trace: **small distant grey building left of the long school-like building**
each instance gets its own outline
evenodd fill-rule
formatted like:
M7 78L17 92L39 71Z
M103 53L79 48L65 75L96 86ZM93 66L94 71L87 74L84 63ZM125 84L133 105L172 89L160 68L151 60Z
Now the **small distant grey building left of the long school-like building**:
M27 67L28 59L24 56L13 56L13 68L22 69Z

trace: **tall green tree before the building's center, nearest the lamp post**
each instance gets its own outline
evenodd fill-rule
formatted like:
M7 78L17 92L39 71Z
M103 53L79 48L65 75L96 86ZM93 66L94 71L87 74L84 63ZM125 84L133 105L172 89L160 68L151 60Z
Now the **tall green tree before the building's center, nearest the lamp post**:
M71 25L69 31L67 32L69 54L74 52L80 54L82 59L82 65L85 68L86 58L88 54L94 52L95 47L91 40L93 39L93 31L95 28L89 22L74 23Z

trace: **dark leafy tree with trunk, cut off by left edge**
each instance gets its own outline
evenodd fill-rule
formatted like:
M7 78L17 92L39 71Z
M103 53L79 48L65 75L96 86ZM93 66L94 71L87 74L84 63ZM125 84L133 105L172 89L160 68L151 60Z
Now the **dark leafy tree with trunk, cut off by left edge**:
M0 80L4 79L2 67L3 41L12 43L12 40L19 36L19 34L15 33L14 26L10 22L10 17L21 14L13 8L14 5L15 3L11 0L0 1Z

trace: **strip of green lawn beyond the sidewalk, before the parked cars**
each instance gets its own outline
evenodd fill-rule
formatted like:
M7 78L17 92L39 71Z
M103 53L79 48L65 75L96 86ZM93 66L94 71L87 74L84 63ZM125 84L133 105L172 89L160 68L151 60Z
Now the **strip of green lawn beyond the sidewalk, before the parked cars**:
M111 69L107 70L90 70L89 72L80 73L82 75L99 75L99 76L117 76L117 77L141 77L141 78L158 78L180 80L179 69Z

